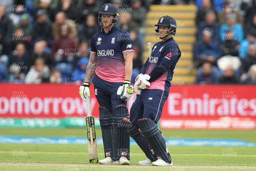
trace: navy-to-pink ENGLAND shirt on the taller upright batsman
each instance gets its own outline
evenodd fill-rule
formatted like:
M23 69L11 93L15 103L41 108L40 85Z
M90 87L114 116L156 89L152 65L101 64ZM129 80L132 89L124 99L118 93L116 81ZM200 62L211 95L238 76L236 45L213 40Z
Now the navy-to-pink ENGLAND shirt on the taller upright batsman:
M104 29L93 35L91 53L96 53L96 75L109 82L125 80L125 59L123 53L134 51L131 36L115 25L106 34Z

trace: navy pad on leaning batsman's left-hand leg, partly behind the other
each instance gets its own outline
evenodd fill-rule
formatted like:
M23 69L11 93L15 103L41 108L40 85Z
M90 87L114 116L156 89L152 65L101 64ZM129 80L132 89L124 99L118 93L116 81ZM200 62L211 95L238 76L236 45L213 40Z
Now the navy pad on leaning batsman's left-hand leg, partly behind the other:
M151 160L151 162L154 162L157 160L157 157L154 156L151 152L151 147L148 143L148 140L141 134L141 132L137 129L136 126L134 126L133 123L131 123L128 119L123 119L125 122L127 122L127 132L129 135L135 140L135 142L138 144L140 149L145 153L146 157Z

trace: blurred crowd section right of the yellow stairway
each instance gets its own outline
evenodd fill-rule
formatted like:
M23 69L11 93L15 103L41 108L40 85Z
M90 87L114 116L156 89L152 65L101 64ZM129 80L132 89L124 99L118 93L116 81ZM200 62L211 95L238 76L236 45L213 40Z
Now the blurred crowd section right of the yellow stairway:
M196 0L196 83L256 84L256 1Z

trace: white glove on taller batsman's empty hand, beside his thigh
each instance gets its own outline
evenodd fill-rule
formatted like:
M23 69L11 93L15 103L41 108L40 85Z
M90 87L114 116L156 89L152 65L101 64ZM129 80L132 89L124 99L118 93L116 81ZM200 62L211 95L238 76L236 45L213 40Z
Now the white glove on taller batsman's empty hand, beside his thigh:
M122 101L130 100L133 94L133 86L131 85L131 81L125 80L124 84L120 86L116 92L117 95L120 95Z

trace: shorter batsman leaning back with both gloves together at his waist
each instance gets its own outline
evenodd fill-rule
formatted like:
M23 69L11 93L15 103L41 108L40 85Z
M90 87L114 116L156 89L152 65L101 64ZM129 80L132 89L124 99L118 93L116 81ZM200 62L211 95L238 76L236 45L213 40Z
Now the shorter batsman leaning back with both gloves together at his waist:
M172 158L160 132L159 121L168 98L171 80L181 52L173 39L177 24L174 18L163 16L158 20L155 35L158 40L152 53L135 79L137 96L131 106L130 121L126 121L129 135L137 142L148 159L140 165L170 166Z

